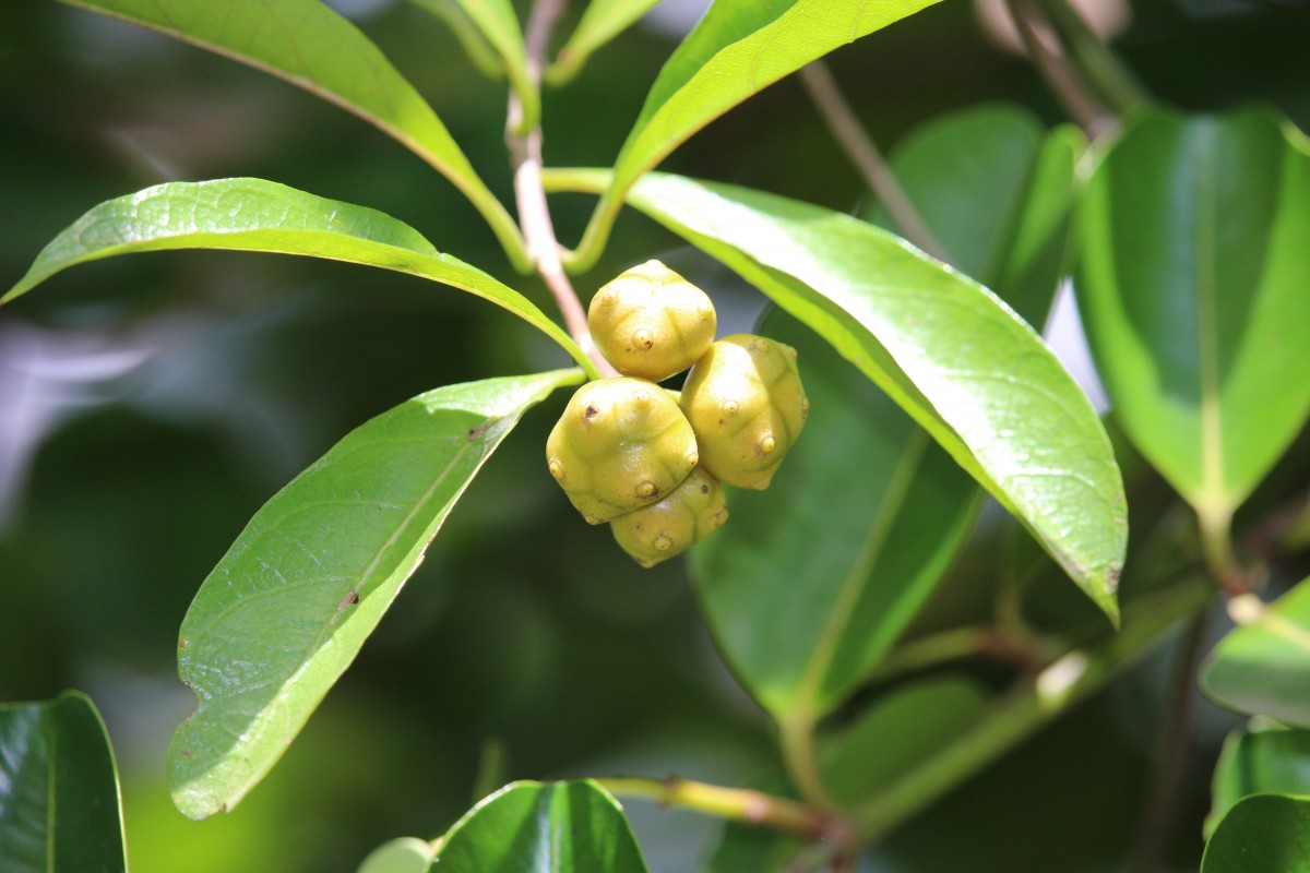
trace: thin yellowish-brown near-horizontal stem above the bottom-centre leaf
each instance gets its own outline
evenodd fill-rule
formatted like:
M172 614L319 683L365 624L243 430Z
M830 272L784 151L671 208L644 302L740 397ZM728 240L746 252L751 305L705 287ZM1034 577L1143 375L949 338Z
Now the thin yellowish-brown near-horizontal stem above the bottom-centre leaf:
M715 818L772 827L817 840L833 832L836 819L812 806L749 788L724 788L669 776L605 776L596 783L618 797L643 797L663 806L690 809Z

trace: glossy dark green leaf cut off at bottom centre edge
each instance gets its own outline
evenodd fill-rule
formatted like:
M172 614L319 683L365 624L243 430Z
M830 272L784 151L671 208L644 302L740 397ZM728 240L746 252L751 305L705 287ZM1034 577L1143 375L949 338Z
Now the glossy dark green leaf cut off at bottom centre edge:
M514 783L456 822L440 873L647 873L627 818L593 781Z

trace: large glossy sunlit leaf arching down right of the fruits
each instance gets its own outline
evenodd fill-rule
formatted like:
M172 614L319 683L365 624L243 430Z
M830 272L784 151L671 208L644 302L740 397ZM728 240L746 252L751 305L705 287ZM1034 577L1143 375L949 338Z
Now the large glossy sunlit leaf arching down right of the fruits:
M550 174L557 190L607 181ZM990 292L865 221L760 191L650 174L629 203L854 363L1115 620L1128 522L1110 440L1051 349Z

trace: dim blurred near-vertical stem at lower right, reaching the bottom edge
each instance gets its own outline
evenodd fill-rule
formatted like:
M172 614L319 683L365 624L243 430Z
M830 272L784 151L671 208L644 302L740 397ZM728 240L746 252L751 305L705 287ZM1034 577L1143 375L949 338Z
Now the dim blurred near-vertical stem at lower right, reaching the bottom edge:
M1196 696L1196 668L1201 660L1208 613L1191 620L1174 665L1170 682L1169 709L1159 734L1155 767L1150 777L1146 806L1133 846L1128 869L1132 873L1157 873L1178 826L1178 796L1187 775L1187 759L1192 750L1192 717Z

